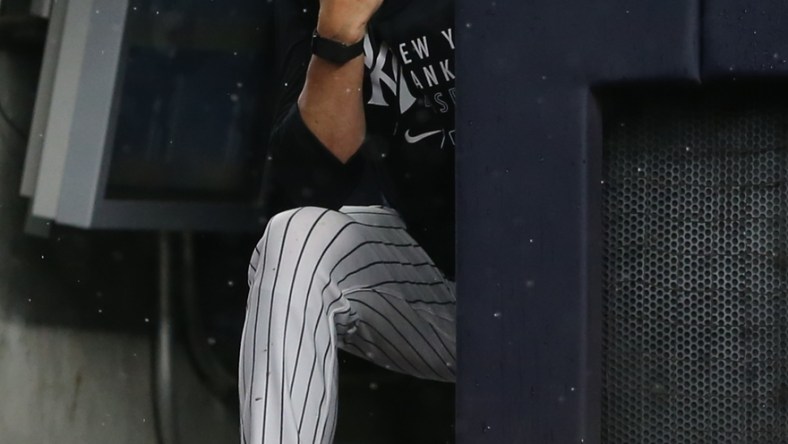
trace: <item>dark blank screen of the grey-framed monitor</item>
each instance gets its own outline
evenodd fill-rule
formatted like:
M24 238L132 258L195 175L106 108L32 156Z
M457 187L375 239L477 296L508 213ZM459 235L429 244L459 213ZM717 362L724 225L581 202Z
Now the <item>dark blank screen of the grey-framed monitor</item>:
M129 2L105 199L256 198L273 96L270 5Z

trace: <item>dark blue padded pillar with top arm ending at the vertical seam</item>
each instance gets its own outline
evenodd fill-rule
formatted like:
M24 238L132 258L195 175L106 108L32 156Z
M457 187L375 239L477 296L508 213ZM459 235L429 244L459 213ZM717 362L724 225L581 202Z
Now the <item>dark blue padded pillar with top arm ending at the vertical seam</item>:
M458 442L599 442L593 91L699 81L700 16L695 0L458 0Z

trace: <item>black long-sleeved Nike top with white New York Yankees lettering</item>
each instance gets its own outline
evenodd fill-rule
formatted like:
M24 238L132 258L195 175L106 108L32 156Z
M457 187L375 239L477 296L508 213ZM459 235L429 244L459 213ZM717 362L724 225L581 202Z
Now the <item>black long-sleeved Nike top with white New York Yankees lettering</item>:
M365 43L367 140L346 164L306 128L296 106L317 12L314 1L275 5L281 90L266 173L275 210L338 209L365 177L374 177L382 201L400 212L409 233L453 275L453 2L386 0L373 17Z

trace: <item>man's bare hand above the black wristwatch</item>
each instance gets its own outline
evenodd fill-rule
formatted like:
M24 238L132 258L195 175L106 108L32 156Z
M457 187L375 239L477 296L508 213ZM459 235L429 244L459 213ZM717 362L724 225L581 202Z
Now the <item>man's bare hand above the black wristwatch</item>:
M320 0L317 32L352 45L364 38L369 19L382 4L383 0Z

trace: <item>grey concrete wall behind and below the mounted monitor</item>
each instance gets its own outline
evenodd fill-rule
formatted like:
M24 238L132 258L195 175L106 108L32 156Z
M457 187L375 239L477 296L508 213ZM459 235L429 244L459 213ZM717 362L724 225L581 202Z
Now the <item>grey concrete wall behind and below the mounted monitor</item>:
M27 127L40 55L0 53L0 104ZM0 443L155 443L150 233L22 233L26 141L0 120ZM182 442L238 442L235 413L181 351Z

